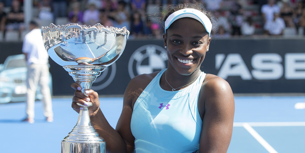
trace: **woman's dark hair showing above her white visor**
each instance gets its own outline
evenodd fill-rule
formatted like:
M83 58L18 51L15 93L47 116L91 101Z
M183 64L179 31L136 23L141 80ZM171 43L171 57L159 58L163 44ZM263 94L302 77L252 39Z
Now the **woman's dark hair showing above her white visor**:
M165 28L164 23L165 23L166 19L169 17L170 14L172 14L173 12L178 11L180 9L184 9L184 8L197 9L197 10L203 12L208 17L208 19L212 22L211 12L207 11L201 2L195 1L193 3L180 3L180 4L175 5L174 7L172 7L172 5L169 5L167 11L163 12L163 19L162 19L163 28Z

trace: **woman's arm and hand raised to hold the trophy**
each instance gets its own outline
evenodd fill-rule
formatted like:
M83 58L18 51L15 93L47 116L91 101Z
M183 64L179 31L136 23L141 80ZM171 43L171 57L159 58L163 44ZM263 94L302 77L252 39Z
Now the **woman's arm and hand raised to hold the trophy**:
M123 99L123 109L116 125L112 128L100 109L99 95L93 90L89 90L88 97L93 106L89 107L91 123L96 131L106 142L107 153L134 153L135 138L131 132L131 118L133 105L137 97L147 86L154 75L140 75L134 77L128 84ZM78 85L72 83L71 87L77 89ZM79 113L80 107L76 103L84 105L85 96L81 91L76 90L73 97L72 108Z

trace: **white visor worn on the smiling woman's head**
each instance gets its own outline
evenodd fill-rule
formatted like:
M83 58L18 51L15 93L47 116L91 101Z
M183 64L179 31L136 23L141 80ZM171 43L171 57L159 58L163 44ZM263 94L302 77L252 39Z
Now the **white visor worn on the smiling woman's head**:
M165 33L166 30L169 28L169 26L176 20L180 18L193 18L198 20L200 23L203 24L203 27L205 28L206 32L208 33L208 36L211 34L212 30L212 23L208 19L208 17L201 11L193 8L184 8L177 10L169 15L169 17L165 21Z

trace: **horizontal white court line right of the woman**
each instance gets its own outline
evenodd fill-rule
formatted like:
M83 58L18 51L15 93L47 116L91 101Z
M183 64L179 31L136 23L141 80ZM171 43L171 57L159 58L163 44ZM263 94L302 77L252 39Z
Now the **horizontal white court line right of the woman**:
M305 126L305 122L234 122L234 127L243 127L247 123L250 126Z

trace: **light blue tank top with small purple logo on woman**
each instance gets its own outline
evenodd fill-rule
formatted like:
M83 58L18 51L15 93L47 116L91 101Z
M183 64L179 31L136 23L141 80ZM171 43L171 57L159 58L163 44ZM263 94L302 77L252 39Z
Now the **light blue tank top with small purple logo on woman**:
M160 86L162 70L136 100L131 119L136 153L192 153L199 150L202 119L199 92L205 77L178 91Z

